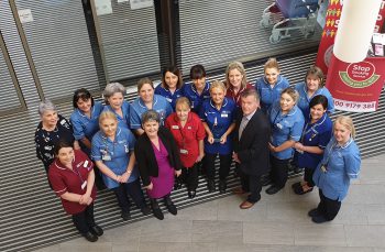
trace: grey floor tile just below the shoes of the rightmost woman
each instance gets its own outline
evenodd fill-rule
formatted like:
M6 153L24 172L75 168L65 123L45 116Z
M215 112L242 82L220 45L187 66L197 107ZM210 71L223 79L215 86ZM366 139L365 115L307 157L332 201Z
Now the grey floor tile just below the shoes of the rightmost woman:
M294 232L296 245L346 246L343 224L295 224Z

